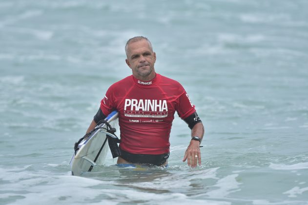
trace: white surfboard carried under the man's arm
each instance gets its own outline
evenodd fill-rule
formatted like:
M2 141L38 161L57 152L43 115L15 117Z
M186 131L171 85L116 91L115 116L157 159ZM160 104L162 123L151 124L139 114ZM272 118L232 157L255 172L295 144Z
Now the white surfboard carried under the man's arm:
M111 112L107 118L106 122L114 121L118 118L118 111L115 110ZM108 138L109 135L113 138L117 138L115 135L106 132L105 123L98 124L95 130L87 139L82 140L78 144L79 150L74 155L70 161L70 166L72 168L72 175L80 176L82 172L91 171L93 166L101 165L104 163L107 150L109 149Z

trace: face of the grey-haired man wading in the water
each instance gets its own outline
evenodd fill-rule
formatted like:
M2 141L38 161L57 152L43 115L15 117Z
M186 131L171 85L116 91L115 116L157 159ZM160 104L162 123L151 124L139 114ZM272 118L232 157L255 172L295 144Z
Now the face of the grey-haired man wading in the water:
M133 76L148 81L155 77L154 63L156 54L146 40L131 42L127 49L127 65L132 69Z

